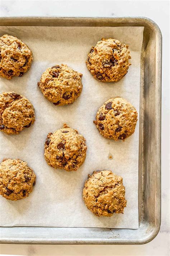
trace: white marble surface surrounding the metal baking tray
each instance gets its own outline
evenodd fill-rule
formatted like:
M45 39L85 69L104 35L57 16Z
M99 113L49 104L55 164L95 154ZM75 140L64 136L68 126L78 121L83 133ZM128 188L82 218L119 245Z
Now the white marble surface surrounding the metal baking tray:
M0 16L144 16L163 37L162 50L162 223L157 237L141 246L1 244L1 255L141 255L169 252L169 1L0 1Z

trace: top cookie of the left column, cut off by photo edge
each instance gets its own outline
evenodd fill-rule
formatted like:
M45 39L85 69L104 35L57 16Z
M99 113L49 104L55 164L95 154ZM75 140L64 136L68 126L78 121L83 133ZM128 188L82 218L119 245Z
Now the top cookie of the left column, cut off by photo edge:
M32 63L32 52L17 37L0 37L0 76L11 79L23 76Z

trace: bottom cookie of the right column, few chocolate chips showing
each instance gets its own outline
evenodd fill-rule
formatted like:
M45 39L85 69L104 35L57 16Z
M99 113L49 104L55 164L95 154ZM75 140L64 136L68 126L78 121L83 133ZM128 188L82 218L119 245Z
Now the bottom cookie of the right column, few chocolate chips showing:
M87 208L97 216L110 217L124 212L125 188L121 176L112 171L94 171L85 182L83 199Z

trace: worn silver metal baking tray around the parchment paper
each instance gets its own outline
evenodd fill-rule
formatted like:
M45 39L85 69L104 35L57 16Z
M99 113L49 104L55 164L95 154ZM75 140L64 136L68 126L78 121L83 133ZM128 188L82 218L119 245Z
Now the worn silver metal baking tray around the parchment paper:
M144 17L1 17L0 26L142 26L140 78L139 229L0 227L0 243L144 244L161 224L161 60L162 35Z

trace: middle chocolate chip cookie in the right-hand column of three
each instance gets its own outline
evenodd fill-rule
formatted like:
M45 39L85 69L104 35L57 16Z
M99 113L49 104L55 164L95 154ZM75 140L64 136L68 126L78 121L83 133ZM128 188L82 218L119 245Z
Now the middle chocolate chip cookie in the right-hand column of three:
M110 98L99 108L94 123L105 138L124 141L134 133L137 111L121 97Z

